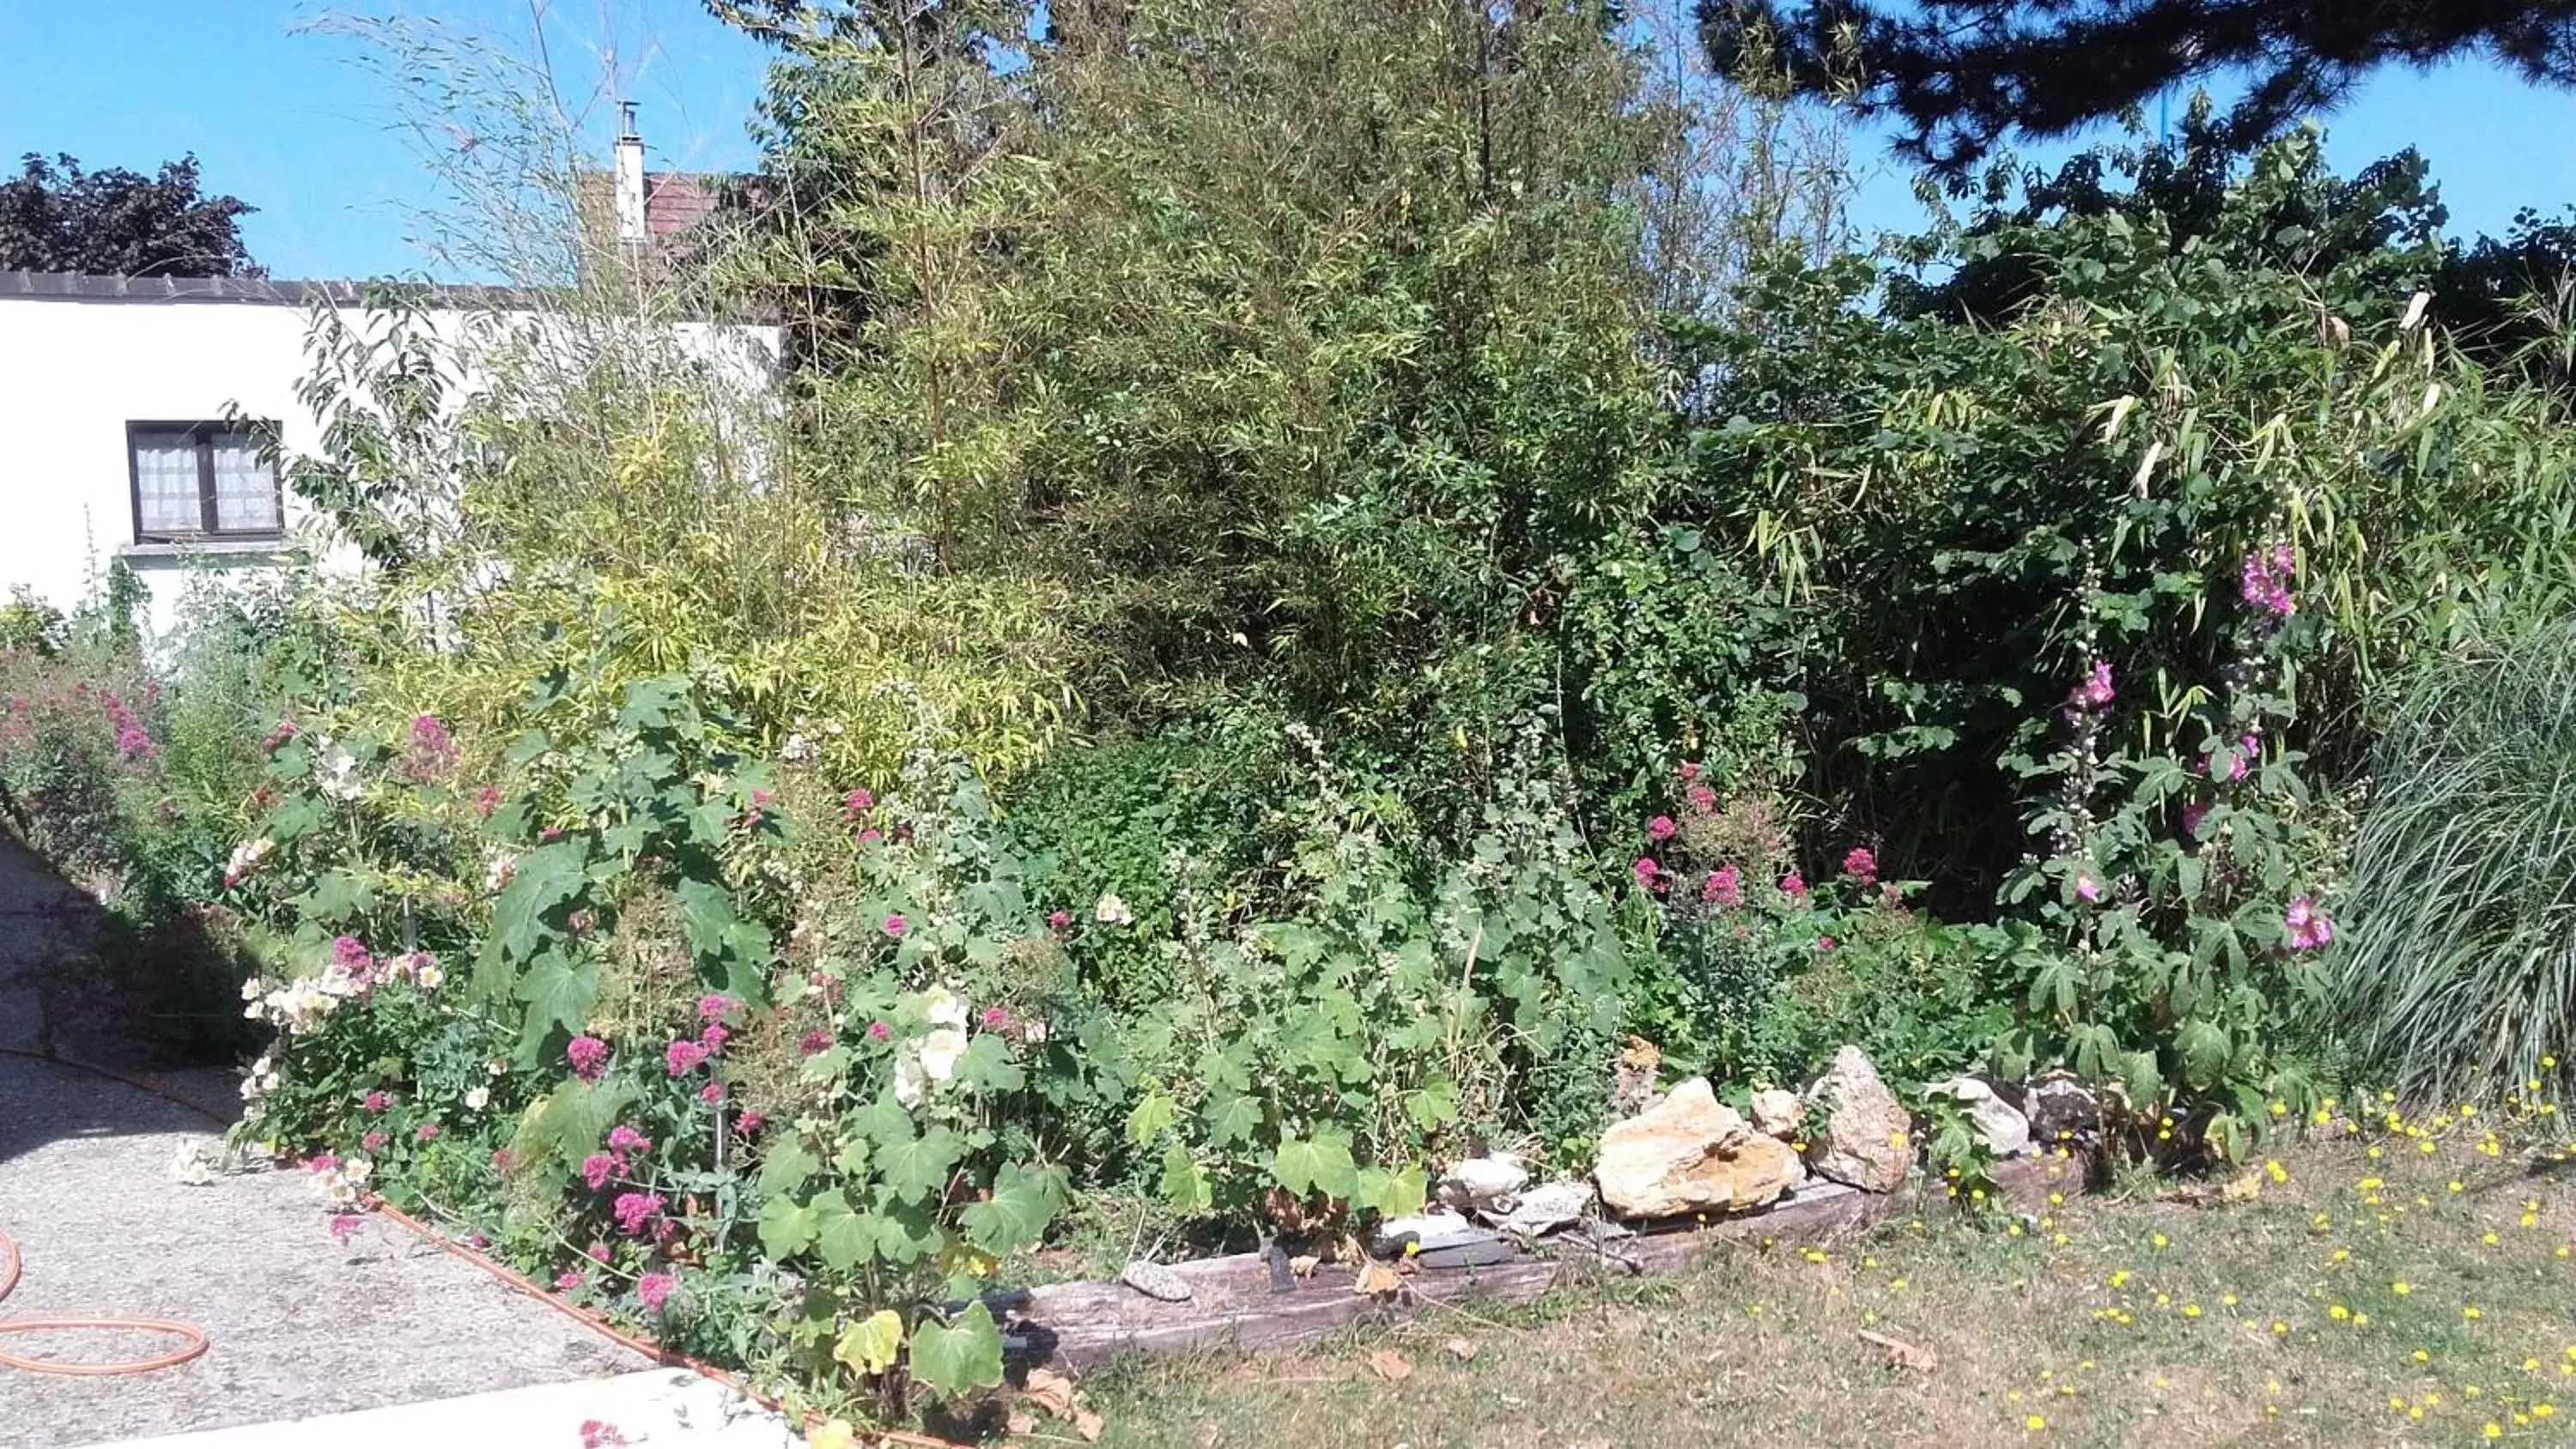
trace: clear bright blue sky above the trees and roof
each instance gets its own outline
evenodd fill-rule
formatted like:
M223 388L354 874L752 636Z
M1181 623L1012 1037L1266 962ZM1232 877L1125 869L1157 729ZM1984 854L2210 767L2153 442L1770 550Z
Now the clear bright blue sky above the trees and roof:
M325 5L0 0L0 157L72 152L90 167L149 170L193 149L211 188L260 208L245 239L273 275L422 268L412 216L435 203L435 185L394 129L384 82L355 64L361 46L299 33ZM621 95L641 103L657 170L729 170L755 154L744 121L768 51L706 18L698 0L415 0L397 13L513 49L541 31L567 95L577 108L590 98L585 124L603 157ZM2478 62L2380 72L2326 126L2342 170L2419 147L2463 234L2499 232L2519 206L2576 201L2576 93L2535 90ZM1909 175L1883 147L1865 144L1855 160L1865 226L1919 219Z

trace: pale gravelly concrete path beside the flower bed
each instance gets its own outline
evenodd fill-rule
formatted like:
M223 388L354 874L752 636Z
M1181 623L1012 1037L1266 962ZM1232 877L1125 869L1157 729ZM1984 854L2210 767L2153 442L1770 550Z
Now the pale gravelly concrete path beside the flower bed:
M191 1099L206 1081L188 1081ZM26 1279L10 1318L180 1318L211 1351L157 1374L0 1369L0 1446L52 1449L397 1405L649 1367L412 1233L368 1217L332 1241L299 1171L183 1186L206 1120L131 1086L0 1055L0 1230ZM124 1336L13 1338L18 1351L139 1356ZM41 1343L41 1349L39 1349Z

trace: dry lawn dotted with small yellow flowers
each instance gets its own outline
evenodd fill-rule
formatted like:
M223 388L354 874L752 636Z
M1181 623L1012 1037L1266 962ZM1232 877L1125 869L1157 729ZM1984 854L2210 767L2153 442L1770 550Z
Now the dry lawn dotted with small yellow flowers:
M1301 1356L1121 1364L1087 1392L1103 1444L1193 1449L2568 1441L2576 1168L2532 1145L2550 1107L2488 1120L2318 1125L2251 1202L2133 1181L2032 1225L1734 1248ZM1388 1349L1396 1382L1370 1364Z

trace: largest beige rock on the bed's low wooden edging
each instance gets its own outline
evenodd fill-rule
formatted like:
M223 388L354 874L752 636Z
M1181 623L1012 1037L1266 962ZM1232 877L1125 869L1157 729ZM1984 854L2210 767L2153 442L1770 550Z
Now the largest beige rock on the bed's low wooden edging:
M1695 1076L1602 1132L1592 1181L1628 1217L1744 1212L1793 1192L1806 1171L1785 1143L1754 1132Z

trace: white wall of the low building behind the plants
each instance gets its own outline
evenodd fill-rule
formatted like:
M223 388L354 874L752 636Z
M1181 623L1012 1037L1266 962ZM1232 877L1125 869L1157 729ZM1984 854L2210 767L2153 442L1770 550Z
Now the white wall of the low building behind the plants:
M358 309L343 309L353 324ZM448 342L487 319L430 317ZM276 546L137 546L126 422L278 422L289 458L319 448L319 425L296 404L307 373L309 314L245 299L10 296L0 288L0 597L28 587L72 610L113 558L152 592L152 631L178 620L193 579L240 579L278 561ZM737 378L778 355L775 329L680 324L693 355L724 355ZM283 489L289 548L309 556L309 520ZM350 556L317 558L325 569Z

